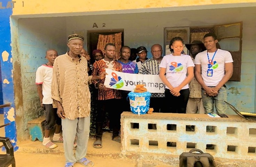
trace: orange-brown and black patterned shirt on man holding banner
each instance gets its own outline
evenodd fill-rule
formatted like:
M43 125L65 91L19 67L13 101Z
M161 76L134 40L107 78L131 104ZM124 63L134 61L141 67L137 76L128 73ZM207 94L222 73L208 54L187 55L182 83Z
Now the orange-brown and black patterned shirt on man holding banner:
M106 72L106 68L109 68L114 71L122 72L122 65L117 62L116 60L113 60L111 62L107 62L104 59L96 61L93 64L93 76L98 76L102 72ZM109 74L110 75L110 74ZM100 79L98 81L94 81L94 83L102 83L104 84L105 79ZM108 99L120 99L121 98L121 91L118 89L111 89L111 88L105 88L104 90L99 89L98 91L98 100L108 100Z

